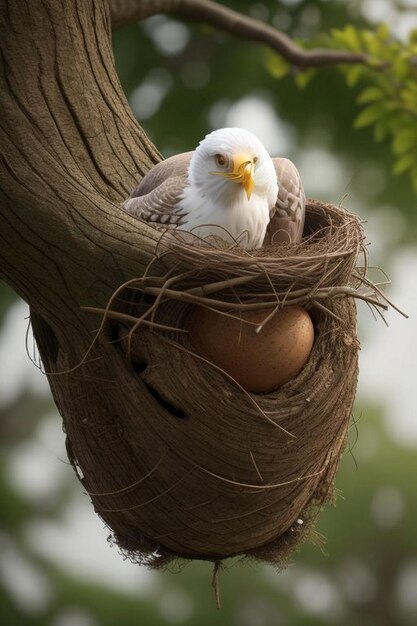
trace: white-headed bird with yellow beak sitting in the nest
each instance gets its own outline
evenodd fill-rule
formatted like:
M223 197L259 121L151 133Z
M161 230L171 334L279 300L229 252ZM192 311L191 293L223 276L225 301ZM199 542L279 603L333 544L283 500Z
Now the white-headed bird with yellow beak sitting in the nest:
M194 151L155 165L123 203L130 215L242 248L301 241L305 194L292 161L271 158L243 128L221 128Z

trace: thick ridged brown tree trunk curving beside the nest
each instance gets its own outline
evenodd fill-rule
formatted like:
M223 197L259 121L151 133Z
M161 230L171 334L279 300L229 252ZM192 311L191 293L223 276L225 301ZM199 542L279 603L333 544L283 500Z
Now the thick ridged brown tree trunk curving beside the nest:
M121 89L104 0L3 0L0 32L0 276L79 353L97 321L81 307L153 254L120 203L160 155Z

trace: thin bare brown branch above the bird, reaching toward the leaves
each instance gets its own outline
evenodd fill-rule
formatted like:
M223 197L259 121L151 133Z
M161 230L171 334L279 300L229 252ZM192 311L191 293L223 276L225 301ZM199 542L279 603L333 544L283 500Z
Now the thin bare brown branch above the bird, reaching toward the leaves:
M266 44L295 67L369 63L366 54L322 48L304 50L273 26L211 0L108 0L108 2L114 29L152 15L173 13L192 21L210 24L246 41Z

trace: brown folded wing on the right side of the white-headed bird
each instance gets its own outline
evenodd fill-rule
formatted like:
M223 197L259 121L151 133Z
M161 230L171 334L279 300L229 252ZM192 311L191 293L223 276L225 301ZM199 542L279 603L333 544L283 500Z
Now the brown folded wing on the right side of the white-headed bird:
M278 197L271 211L265 244L296 243L303 236L305 194L300 174L289 159L272 159L278 179Z

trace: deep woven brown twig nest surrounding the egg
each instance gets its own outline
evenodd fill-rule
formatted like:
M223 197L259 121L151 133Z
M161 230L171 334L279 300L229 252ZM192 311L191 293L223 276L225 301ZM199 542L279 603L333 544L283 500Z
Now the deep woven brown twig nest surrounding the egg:
M301 244L253 252L162 236L157 262L106 309L128 333L121 344L140 379L138 420L120 488L90 495L127 556L154 567L234 555L282 564L307 536L333 497L346 443L355 298L384 307L366 279L361 222L340 207L310 202ZM307 364L271 393L245 392L194 353L183 331L196 304L237 316L268 309L264 323L304 306L315 326ZM102 467L90 464L90 484Z

